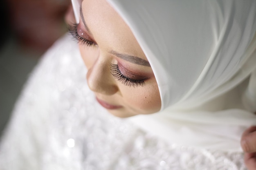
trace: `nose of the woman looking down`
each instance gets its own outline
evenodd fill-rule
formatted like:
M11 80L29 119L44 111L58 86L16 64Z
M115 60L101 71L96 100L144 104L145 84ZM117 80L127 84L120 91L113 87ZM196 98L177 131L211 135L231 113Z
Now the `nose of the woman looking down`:
M109 64L97 60L86 75L89 88L103 95L115 94L118 87L110 76L112 75Z

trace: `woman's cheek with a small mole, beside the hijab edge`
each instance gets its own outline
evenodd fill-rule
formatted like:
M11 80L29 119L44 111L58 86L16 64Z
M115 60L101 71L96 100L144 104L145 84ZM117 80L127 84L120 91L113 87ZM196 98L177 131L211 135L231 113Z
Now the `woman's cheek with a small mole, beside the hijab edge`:
M126 106L140 114L156 113L161 108L161 98L156 82L143 87L128 88L123 93ZM132 94L132 95L131 95Z

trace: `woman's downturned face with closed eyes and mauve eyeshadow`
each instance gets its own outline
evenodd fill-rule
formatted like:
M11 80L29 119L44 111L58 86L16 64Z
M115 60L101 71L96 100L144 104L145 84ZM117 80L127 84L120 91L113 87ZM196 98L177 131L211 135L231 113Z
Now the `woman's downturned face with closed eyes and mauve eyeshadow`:
M83 0L80 23L71 29L88 68L88 86L118 117L161 108L157 82L146 56L124 20L106 0Z

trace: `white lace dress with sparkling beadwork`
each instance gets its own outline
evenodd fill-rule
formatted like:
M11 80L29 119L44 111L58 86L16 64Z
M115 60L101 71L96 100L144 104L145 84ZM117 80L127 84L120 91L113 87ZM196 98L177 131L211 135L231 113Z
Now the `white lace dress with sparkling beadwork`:
M66 35L25 85L0 145L0 170L245 170L243 154L169 144L113 117ZM152 125L153 126L153 125Z

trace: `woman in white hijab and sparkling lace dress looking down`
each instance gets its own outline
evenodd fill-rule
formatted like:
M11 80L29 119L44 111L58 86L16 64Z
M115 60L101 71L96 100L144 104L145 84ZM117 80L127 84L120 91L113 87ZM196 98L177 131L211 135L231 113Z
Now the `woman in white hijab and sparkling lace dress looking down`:
M245 169L255 1L74 7L70 32L88 71L67 37L45 54L3 139L1 160L17 163L6 169Z

